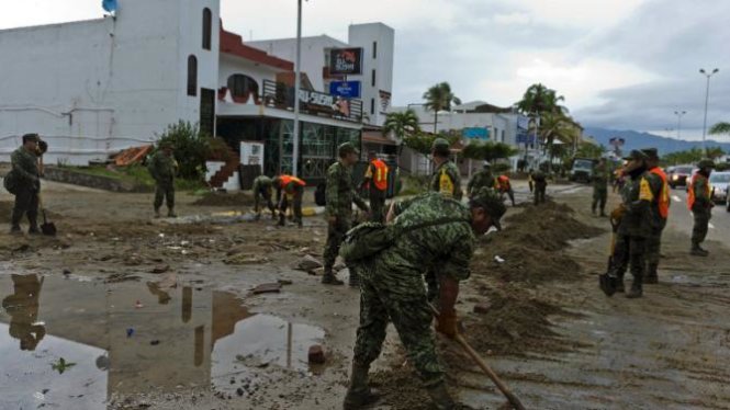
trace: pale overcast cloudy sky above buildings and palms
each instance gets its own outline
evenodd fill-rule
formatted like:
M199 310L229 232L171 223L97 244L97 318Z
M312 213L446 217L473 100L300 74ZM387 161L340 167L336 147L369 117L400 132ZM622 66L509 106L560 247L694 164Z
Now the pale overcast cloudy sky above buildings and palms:
M0 29L98 18L100 4L0 0ZM221 4L225 27L245 38L295 35L295 0ZM346 41L350 23L393 27L395 105L422 102L429 86L448 81L464 102L507 106L542 82L585 126L676 135L680 110L687 111L683 137L696 138L706 87L699 68L720 69L708 126L730 122L729 15L729 0L311 0L303 32Z

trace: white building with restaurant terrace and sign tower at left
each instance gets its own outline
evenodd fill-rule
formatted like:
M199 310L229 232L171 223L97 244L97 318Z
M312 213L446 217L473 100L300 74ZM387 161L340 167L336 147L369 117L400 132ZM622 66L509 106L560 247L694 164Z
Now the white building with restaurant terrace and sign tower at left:
M362 47L363 69L377 76L363 98L390 95L393 31L355 25L350 41ZM372 103L329 93L325 82L334 77L324 49L346 44L325 43L303 52L305 61L319 61L299 95L297 173L311 182L324 178L338 144L360 146L363 117L379 121L384 112L366 115L363 105ZM224 138L242 156L254 147L246 161L268 174L292 172L292 59L224 30L220 0L126 0L113 16L4 30L0 54L8 61L0 66L0 160L9 160L23 134L35 132L49 145L46 163L87 164L150 144L183 121ZM357 80L368 76L362 71ZM226 181L237 168L236 157L212 173Z

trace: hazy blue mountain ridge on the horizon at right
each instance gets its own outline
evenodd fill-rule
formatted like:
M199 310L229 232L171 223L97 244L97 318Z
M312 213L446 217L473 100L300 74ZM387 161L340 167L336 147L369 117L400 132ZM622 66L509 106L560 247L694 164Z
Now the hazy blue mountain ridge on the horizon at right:
M639 133L636 130L617 130L607 128L585 127L583 130L584 136L592 136L598 144L602 144L606 149L613 149L608 140L614 137L624 138L626 141L621 147L622 152L628 152L632 149L642 149L654 147L659 150L659 155L663 156L670 152L686 151L692 148L699 148L700 141L688 141L684 139L661 137L659 135L649 133ZM720 147L725 152L730 152L730 143L718 143L714 139L706 140L707 147Z

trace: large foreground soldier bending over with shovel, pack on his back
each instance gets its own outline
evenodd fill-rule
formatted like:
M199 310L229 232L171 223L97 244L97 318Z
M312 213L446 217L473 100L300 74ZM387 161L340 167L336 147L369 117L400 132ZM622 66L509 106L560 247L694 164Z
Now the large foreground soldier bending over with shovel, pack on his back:
M368 372L380 355L385 329L392 321L435 407L453 409L436 355L433 312L422 274L425 266L438 272L440 316L436 330L454 337L458 332L454 303L459 282L470 274L475 235L486 232L492 226L498 229L505 206L493 191L483 187L469 205L426 193L391 208L397 215L392 220L395 227L406 230L431 224L404 231L389 248L357 265L361 274L360 326L344 408L360 409L378 399L368 386Z

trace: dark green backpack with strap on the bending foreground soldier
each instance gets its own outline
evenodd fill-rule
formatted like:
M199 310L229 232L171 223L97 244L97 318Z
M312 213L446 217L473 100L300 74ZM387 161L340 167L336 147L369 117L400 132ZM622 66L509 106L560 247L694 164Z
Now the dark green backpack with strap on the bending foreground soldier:
M457 217L443 217L406 228L392 224L363 223L347 231L345 240L339 248L339 255L342 257L347 265L356 264L375 255L386 248L390 248L395 243L395 240L404 234L430 226L459 221L465 223L468 220Z

